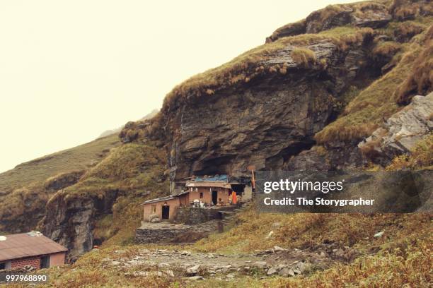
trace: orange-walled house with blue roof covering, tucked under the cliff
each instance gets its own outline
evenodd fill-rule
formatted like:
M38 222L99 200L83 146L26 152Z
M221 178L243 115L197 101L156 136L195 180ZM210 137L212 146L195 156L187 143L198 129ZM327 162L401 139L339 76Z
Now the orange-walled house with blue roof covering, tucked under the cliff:
M173 220L179 207L194 203L202 203L203 208L230 205L232 193L248 197L250 193L245 192L250 190L246 188L246 184L227 175L195 177L185 181L179 193L144 201L143 220L151 221L153 217L159 220Z

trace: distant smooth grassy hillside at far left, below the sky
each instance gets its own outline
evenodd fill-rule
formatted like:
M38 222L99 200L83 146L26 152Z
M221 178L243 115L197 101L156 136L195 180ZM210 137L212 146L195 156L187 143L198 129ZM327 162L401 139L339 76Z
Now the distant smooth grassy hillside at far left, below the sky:
M0 174L0 232L28 232L45 215L45 204L57 190L79 181L91 167L120 145L117 136L19 164Z

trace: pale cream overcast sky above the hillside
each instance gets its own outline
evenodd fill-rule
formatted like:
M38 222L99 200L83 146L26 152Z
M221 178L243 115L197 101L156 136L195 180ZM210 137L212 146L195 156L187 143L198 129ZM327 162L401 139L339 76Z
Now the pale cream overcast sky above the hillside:
M328 4L0 1L0 172L160 108L182 80Z

